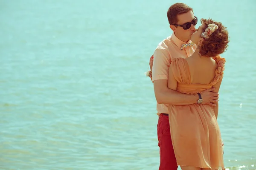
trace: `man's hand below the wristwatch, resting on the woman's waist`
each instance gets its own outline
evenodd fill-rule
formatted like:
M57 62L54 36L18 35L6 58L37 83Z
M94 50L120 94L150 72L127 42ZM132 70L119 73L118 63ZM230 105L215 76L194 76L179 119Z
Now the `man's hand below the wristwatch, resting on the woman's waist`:
M210 89L207 89L201 93L203 102L202 104L207 104L210 106L216 106L216 103L218 102L219 94L212 92L215 88L212 87Z

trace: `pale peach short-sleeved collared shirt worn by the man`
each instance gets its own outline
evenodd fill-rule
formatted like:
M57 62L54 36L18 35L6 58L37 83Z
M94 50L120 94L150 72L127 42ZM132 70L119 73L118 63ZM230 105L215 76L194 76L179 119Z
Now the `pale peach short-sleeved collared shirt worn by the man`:
M180 50L183 44L188 44L191 41L183 42L179 40L174 33L167 37L165 40L157 45L154 51L154 62L152 67L152 81L158 79L168 80L169 67L172 59L175 58L187 58L190 57L196 49L196 45L192 47L186 47L184 50ZM168 104L157 103L157 114L168 113Z

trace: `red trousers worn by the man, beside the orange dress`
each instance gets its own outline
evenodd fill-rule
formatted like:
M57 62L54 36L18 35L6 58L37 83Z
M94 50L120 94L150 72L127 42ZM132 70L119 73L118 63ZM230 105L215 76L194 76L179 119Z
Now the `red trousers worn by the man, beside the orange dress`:
M160 147L159 170L177 170L177 161L172 147L169 116L160 114L157 124L158 146Z

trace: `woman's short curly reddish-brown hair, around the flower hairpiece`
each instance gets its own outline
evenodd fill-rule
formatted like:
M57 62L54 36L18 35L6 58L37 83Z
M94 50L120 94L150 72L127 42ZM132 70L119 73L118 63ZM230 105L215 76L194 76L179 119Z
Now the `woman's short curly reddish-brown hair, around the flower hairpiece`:
M209 24L216 24L218 29L215 30L208 39L204 38L202 42L199 42L199 53L205 57L215 57L224 53L227 50L227 43L229 42L227 27L224 27L222 23L216 22L212 19L201 19L201 23L205 24L204 30ZM202 37L203 38L203 37Z

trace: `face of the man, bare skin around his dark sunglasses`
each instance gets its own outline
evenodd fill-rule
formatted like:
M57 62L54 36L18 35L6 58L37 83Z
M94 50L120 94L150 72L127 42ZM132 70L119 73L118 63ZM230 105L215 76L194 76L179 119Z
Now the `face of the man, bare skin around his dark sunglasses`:
M179 14L177 16L178 22L177 25L183 25L185 23L190 23L195 19L195 16L192 11L189 11L184 14ZM183 40L190 40L191 35L195 32L195 26L191 24L189 29L184 30L183 27L177 26L175 29L175 34L179 35Z

